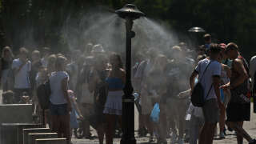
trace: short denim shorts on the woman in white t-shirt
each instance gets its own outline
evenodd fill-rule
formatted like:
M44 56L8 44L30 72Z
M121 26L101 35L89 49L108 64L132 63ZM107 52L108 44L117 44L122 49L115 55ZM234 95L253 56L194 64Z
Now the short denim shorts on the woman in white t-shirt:
M67 104L54 105L50 103L50 114L51 115L67 115L69 114L67 110Z

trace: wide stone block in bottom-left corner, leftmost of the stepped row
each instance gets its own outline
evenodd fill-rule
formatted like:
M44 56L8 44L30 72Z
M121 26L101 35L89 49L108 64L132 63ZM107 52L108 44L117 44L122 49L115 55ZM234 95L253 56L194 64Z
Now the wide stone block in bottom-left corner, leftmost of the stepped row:
M2 123L1 125L1 144L13 143L22 144L23 128L39 127L41 124L34 123Z

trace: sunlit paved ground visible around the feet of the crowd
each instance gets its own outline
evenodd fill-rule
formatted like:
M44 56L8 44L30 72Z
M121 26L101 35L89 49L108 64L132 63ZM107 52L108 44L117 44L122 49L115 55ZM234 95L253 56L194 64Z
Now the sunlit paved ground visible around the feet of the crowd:
M252 105L251 105L252 106ZM253 110L253 109L251 109ZM138 111L135 109L135 130L138 130ZM256 138L256 114L253 114L251 112L251 121L250 122L245 122L245 126L244 128L246 129L246 131L253 137ZM95 131L93 130L93 134L96 134ZM149 138L138 138L136 137L137 134L135 134L135 138L137 139L137 143L141 143L141 144L147 144L149 141ZM98 139L95 140L88 140L88 139L76 139L73 138L72 140L73 144L98 144ZM116 138L114 139L114 144L118 144L120 143L120 139ZM156 142L152 142L152 143L156 143ZM170 143L170 142L169 142ZM227 136L225 139L219 140L218 138L214 139L214 144L236 144L236 137L234 132L227 132ZM246 142L246 140L244 140L244 143L248 143Z

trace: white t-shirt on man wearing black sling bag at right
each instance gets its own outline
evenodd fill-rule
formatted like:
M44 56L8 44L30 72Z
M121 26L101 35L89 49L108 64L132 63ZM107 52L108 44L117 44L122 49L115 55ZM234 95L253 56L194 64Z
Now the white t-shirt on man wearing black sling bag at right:
M208 66L206 70L206 67L209 63L210 63L210 66ZM212 61L206 58L198 62L198 66L196 66L195 70L198 72L198 76L199 76L198 79L201 82L203 89L205 90L205 98L211 88L210 93L207 96L206 100L209 100L211 98L217 98L215 94L214 86L212 86L213 76L221 76L222 65L217 61ZM206 72L202 76L205 70Z

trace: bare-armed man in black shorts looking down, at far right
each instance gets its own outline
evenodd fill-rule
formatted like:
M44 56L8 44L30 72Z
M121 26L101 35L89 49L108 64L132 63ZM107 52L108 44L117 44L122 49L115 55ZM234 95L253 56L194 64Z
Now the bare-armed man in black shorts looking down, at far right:
M231 91L230 103L226 108L226 124L237 132L238 144L242 144L243 138L246 138L249 144L256 144L256 140L242 128L244 121L250 121L250 98L246 97L249 68L246 60L239 54L235 43L230 42L226 46L226 54L233 60L230 82L221 86L222 89Z

